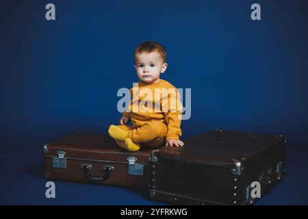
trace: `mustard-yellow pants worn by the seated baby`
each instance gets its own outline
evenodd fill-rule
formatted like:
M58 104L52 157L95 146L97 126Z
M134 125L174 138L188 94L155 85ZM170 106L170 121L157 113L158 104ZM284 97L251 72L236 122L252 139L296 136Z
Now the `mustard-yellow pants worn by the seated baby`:
M151 120L138 128L127 125L118 125L118 127L128 131L127 138L130 138L134 143L141 143L142 146L152 149L164 146L167 126L162 121ZM116 140L116 143L119 146L125 144L118 140Z

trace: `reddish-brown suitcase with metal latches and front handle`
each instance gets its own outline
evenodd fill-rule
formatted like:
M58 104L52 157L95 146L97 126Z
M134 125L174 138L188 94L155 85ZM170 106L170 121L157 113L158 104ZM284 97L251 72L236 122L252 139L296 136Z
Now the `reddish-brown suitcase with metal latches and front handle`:
M48 179L127 187L149 187L149 149L131 153L110 136L77 132L45 144Z

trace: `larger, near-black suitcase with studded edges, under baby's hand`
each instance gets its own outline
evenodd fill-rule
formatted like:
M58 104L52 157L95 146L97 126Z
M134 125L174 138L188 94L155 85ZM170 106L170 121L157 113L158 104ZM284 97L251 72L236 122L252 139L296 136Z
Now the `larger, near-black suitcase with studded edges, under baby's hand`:
M285 141L217 129L183 147L152 151L150 196L184 205L251 205L260 197L251 195L253 182L264 196L285 176Z

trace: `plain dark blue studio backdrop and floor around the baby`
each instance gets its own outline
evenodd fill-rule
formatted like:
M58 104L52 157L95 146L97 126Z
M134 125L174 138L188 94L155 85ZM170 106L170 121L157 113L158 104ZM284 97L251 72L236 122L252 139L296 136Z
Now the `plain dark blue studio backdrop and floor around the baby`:
M55 5L55 21L45 5ZM261 5L261 21L251 5ZM55 182L45 197L42 144L118 123L132 53L168 50L162 79L192 89L183 139L211 129L287 136L287 177L258 205L308 204L308 3L1 1L0 204L160 205L143 190Z

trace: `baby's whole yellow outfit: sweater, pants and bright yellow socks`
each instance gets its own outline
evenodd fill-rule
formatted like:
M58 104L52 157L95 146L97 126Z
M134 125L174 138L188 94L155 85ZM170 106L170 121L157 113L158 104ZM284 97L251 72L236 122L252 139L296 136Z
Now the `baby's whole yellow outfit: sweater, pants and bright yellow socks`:
M165 140L179 140L182 104L177 88L159 79L153 84L140 81L130 91L131 101L123 116L131 119L132 126L112 125L109 130L118 145L129 151L138 151L140 143L157 148Z

